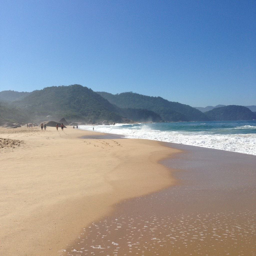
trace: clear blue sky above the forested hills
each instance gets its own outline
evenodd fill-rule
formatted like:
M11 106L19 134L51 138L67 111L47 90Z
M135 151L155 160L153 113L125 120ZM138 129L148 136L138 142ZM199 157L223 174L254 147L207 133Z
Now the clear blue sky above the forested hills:
M81 84L256 105L256 1L2 1L0 91Z

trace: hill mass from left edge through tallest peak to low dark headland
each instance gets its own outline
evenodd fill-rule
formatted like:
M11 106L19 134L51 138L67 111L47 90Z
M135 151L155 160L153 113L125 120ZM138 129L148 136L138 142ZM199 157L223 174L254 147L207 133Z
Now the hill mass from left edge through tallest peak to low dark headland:
M146 109L119 108L111 104L93 90L78 84L71 86L53 86L30 93L15 91L0 92L2 108L0 121L16 120L30 122L62 117L70 121L94 123L103 120L109 122L162 122L162 118ZM8 103L6 103L8 102ZM1 109L0 109L1 110ZM19 115L14 118L16 110Z

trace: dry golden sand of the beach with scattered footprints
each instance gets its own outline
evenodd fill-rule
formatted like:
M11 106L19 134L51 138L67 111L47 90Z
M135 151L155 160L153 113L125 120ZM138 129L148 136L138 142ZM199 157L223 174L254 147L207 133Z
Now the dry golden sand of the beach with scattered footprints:
M125 199L176 181L156 141L81 139L95 132L0 128L0 255L58 255Z

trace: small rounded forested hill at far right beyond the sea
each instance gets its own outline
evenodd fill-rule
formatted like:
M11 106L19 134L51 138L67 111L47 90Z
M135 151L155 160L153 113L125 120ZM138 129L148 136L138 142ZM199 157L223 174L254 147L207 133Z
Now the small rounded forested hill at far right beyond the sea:
M256 115L244 106L229 105L205 112L213 121L252 120Z

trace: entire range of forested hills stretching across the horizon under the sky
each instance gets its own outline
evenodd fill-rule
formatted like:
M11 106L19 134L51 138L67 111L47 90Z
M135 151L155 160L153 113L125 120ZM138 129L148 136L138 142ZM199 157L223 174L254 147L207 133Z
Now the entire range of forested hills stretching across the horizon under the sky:
M211 107L202 113L196 108L161 97L133 92L111 94L94 92L78 84L53 86L33 92L0 92L0 122L34 122L66 118L69 121L176 122L212 120L251 120L255 113L243 106ZM256 106L248 106L255 107ZM206 109L202 108L202 109ZM256 109L255 109L256 110Z

